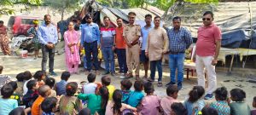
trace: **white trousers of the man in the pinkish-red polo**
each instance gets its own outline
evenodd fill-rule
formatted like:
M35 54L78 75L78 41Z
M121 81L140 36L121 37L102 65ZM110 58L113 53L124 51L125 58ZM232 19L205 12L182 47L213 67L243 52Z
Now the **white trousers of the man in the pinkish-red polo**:
M216 79L216 72L215 72L215 66L212 66L212 60L213 56L199 56L196 55L195 60L195 68L197 73L197 83L198 85L205 88L205 74L204 69L206 69L207 72L207 83L208 83L208 89L207 94L212 94L212 92L217 87L217 79Z

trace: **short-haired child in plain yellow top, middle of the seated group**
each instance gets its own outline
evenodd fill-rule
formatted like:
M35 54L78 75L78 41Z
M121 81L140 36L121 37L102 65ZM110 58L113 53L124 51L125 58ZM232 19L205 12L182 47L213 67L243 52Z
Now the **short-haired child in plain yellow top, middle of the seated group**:
M108 88L109 100L113 100L112 95L113 95L113 91L115 90L115 88L110 83L111 83L111 78L110 77L108 77L108 76L103 76L102 77L102 85L106 86Z

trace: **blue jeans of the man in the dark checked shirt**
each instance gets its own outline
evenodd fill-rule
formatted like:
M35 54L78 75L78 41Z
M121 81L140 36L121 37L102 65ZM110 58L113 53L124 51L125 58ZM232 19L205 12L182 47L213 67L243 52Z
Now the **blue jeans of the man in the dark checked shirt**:
M169 55L169 67L170 67L170 76L171 82L176 83L176 69L177 69L177 83L183 82L183 62L184 62L184 53L177 55Z

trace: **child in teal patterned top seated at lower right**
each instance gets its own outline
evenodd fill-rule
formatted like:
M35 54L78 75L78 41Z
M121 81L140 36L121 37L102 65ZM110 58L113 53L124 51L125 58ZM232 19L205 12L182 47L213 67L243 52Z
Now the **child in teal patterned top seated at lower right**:
M218 115L230 115L230 106L228 104L228 90L225 87L214 91L216 101L210 104L210 107L218 111Z

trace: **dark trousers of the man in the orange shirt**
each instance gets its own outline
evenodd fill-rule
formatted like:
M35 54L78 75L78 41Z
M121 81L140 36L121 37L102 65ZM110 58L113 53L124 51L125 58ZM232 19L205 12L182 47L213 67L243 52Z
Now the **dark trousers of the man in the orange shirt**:
M128 71L126 64L125 49L115 49L118 56L120 72L126 73Z

